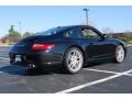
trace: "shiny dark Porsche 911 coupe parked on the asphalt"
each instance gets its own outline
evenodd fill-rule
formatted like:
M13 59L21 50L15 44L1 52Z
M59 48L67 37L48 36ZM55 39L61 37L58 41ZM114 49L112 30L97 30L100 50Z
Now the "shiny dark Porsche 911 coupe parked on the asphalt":
M108 38L89 25L58 26L18 42L9 53L10 63L28 67L62 64L67 73L77 73L89 62L123 62L122 41Z

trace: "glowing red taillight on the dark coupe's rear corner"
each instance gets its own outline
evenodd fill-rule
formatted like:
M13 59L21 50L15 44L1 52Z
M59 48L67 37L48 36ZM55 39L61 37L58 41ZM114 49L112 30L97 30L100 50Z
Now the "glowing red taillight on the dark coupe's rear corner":
M54 44L33 44L33 51L43 51L43 50L51 50L54 47Z

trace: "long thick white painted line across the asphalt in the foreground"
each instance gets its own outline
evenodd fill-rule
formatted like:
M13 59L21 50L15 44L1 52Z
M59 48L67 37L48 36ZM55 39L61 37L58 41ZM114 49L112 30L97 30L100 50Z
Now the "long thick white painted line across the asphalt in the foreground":
M97 85L97 84L101 84L101 82L108 81L110 79L118 78L118 77L127 75L127 74L129 74L131 72L132 72L132 69L123 72L123 73L119 73L119 74L116 74L113 76L109 76L109 77L106 77L106 78L102 78L102 79L99 79L99 80L95 80L95 81L91 81L91 82L86 82L84 85L76 86L76 87L73 87L73 88L69 88L69 89L65 89L65 90L58 91L56 94L67 94L67 92L72 92L72 91L75 91L75 90L79 90L79 89L82 89L85 87L89 87L89 86L92 86L92 85Z

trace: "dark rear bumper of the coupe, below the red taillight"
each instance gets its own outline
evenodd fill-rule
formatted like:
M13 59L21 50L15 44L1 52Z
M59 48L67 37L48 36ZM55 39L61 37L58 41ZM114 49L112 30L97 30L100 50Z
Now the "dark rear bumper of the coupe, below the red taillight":
M21 61L16 62L15 57L20 55ZM63 56L61 54L51 54L51 53L9 53L10 64L30 67L31 65L35 66L47 66L47 65L57 65L62 64Z

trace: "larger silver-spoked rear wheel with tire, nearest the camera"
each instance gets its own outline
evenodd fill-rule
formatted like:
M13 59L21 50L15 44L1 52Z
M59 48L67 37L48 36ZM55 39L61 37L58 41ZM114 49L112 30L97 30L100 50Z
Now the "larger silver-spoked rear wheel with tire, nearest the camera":
M64 56L64 70L69 74L78 73L84 66L84 54L77 47L70 47Z

